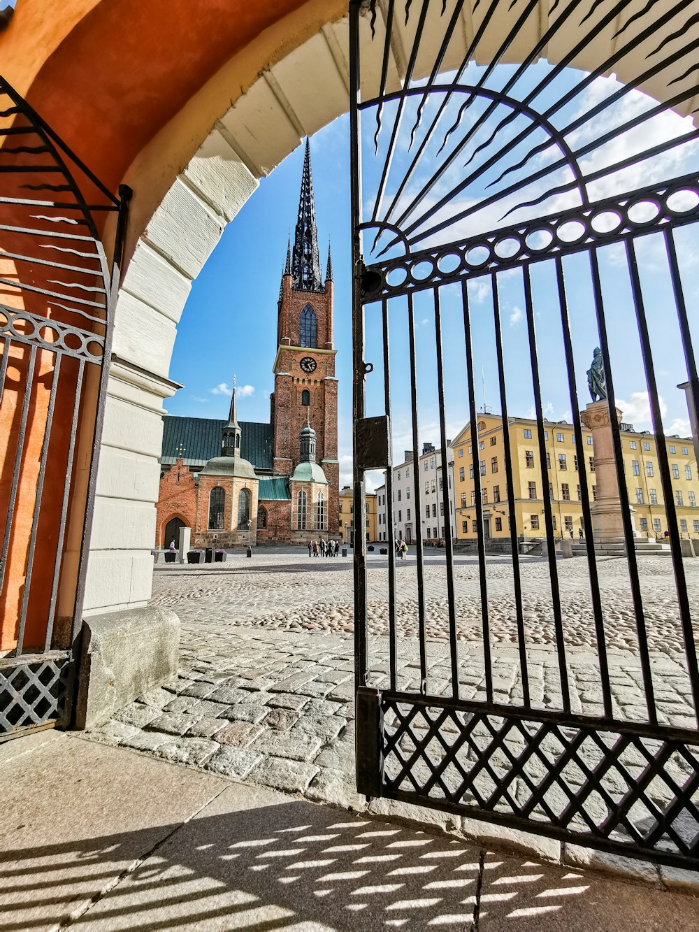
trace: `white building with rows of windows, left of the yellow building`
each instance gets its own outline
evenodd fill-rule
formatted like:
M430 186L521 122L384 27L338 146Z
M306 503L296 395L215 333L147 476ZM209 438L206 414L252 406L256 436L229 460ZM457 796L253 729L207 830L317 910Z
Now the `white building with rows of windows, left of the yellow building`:
M445 539L445 500L451 514L452 537L454 529L454 452L446 448L447 488L442 477L442 454L432 444L424 444L418 459L418 476L414 475L413 451L404 451L404 461L393 467L392 509L388 506L386 486L377 488L377 534L378 541L388 541L389 521L393 523L393 538L407 543ZM416 480L420 483L420 512L417 510Z

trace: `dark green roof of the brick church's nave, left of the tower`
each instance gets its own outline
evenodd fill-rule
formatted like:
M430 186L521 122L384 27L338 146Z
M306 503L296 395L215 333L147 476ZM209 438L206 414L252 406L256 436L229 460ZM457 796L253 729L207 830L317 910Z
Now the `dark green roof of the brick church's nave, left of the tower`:
M171 466L176 459L184 459L185 466L203 466L221 455L221 432L226 420L214 418L163 418L162 455L160 462ZM256 470L272 472L273 432L271 424L240 421L240 455L248 459Z

